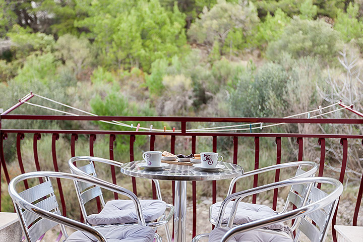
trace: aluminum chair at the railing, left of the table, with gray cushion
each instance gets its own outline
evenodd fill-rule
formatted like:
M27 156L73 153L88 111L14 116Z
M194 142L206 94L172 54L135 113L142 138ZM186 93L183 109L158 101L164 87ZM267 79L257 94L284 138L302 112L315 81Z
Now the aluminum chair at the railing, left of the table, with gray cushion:
M74 162L77 163L79 161L88 161L88 164L78 167L75 166ZM68 165L72 173L93 178L97 177L94 162L109 164L116 167L120 167L121 165L123 165L122 163L117 161L98 158L98 157L91 157L91 156L73 157L68 161ZM146 219L146 226L152 227L154 229L160 226L164 226L167 240L168 242L171 242L171 236L167 223L170 221L170 219L174 214L174 206L162 201L159 181L154 179L153 181L156 187L157 200L140 200L140 204L144 212L144 217ZM111 184L108 183L108 181L103 180L103 182ZM79 203L81 204L81 210L84 220L89 225L99 225L99 224L125 225L137 222L135 214L130 216L130 214L125 213L125 211L129 211L130 209L132 209L133 206L129 200L111 200L105 203L101 189L93 187L92 184L82 183L77 180L75 180L74 183L77 191L77 197ZM100 198L100 202L103 209L99 214L88 215L85 208L85 204L91 201L92 199L95 199L96 197ZM164 207L160 207L160 205ZM165 213L165 208L168 208L169 210L167 216ZM152 210L152 211L148 212L147 210ZM154 213L154 211L156 210L159 211L159 214L161 213L160 214L161 217ZM158 220L156 221L156 219Z

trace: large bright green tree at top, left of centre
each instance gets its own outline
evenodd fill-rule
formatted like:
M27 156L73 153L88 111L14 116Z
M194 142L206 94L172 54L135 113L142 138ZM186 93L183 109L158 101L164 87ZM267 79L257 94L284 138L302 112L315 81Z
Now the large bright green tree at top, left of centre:
M88 27L89 37L102 52L102 62L126 68L150 69L158 58L171 57L186 44L185 15L175 6L166 11L158 0L138 1L119 6L122 1L92 2L88 15L77 26ZM106 10L105 15L97 10ZM120 9L121 11L114 11ZM112 11L110 11L112 10Z

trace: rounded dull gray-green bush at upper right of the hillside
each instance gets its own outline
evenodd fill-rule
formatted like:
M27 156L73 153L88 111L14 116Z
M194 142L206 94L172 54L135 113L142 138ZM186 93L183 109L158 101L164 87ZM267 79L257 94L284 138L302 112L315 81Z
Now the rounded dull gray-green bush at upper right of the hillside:
M279 40L270 42L267 56L272 60L281 58L284 52L293 58L319 56L325 63L336 57L340 38L324 21L305 20L294 17Z

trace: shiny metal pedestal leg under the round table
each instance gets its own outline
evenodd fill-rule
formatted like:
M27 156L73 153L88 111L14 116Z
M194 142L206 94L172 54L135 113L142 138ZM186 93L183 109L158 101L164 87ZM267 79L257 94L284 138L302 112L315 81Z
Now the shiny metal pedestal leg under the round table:
M185 242L187 236L187 181L175 181L175 213L174 213L174 238L175 242Z

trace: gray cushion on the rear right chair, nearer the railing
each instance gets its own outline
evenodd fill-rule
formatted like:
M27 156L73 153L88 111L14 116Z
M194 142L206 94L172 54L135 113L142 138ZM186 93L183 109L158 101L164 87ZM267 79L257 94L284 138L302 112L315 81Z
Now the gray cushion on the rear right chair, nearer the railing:
M219 208L222 202L218 202L212 205L211 208L211 217L214 221L217 221ZM227 223L229 219L229 215L233 206L233 202L227 204L226 209L224 210L224 215L222 219L222 223ZM244 224L252 221L256 221L263 218L268 218L275 215L275 212L265 205L252 204L252 203L244 203L239 202L237 207L237 212L234 217L234 223L236 224ZM284 228L284 224L282 222L271 224L266 226L270 229L282 229Z

